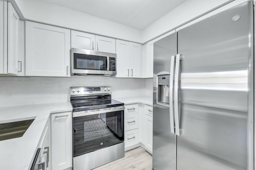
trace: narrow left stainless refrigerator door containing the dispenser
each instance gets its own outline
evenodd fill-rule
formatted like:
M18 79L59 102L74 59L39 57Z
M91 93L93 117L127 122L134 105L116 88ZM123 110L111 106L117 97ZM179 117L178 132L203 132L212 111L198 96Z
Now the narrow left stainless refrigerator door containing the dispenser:
M177 53L177 32L154 43L153 81L153 169L176 170L176 134L170 119L169 91L172 93L174 57ZM172 61L172 62L171 62ZM170 78L170 79L169 79ZM159 81L158 81L159 79ZM161 81L161 82L160 82ZM171 82L170 82L171 81ZM158 85L157 85L158 82ZM157 97L157 91L159 91ZM156 99L158 98L158 102ZM172 100L172 99L171 99ZM172 113L171 113L172 115Z

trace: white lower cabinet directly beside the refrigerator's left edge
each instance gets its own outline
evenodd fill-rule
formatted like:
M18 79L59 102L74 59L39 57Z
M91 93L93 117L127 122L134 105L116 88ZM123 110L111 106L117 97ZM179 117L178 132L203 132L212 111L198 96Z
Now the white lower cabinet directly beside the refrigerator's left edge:
M145 105L142 115L142 144L152 153L153 146L153 108Z

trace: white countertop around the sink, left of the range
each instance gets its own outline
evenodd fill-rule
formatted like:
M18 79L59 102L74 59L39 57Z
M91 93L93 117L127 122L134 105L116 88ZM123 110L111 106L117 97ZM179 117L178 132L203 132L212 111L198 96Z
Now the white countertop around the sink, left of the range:
M0 123L34 119L20 138L0 141L0 169L27 170L51 113L72 111L70 102L0 108Z

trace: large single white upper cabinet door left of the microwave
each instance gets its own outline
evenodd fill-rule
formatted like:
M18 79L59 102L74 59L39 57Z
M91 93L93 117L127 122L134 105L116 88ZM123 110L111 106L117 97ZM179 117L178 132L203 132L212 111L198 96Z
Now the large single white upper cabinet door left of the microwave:
M70 77L70 30L26 21L26 75Z

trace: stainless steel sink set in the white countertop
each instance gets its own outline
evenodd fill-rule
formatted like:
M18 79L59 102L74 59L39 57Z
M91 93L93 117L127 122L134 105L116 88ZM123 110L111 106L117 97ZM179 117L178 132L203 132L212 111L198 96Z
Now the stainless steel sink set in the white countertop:
M19 138L23 136L23 134L34 120L35 119L10 123L0 123L0 140Z

